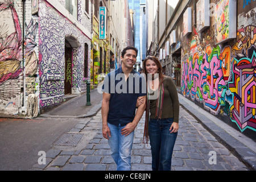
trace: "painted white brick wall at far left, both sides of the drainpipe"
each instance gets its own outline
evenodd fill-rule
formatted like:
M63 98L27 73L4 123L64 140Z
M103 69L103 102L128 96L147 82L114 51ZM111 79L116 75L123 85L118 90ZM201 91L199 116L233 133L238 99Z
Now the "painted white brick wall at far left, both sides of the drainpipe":
M26 114L27 97L38 91L38 22L32 15L22 18L23 11L31 11L31 2L25 5L22 9L22 1L0 1L1 114Z

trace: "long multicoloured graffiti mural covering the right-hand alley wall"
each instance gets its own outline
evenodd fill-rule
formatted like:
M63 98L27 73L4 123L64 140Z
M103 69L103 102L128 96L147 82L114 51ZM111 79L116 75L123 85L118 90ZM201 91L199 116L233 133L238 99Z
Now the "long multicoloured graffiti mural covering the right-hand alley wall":
M237 31L233 46L207 46L193 36L183 55L181 92L213 114L226 115L243 132L256 131L256 27Z

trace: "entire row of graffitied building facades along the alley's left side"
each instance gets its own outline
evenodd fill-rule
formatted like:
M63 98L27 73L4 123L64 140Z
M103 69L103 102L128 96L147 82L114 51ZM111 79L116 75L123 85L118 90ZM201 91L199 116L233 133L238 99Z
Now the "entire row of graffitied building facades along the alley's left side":
M133 40L127 0L0 0L0 7L0 114L36 117L84 93L87 81L96 88Z

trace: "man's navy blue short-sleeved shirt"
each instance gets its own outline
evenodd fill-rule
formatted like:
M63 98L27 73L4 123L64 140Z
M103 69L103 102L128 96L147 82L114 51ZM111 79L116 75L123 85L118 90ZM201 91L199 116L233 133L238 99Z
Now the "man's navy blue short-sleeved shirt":
M108 73L103 82L102 91L110 93L108 122L121 126L133 122L137 98L146 96L145 78L138 72L131 71L125 81L122 67Z

